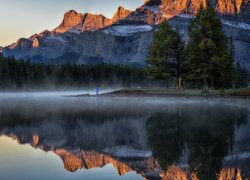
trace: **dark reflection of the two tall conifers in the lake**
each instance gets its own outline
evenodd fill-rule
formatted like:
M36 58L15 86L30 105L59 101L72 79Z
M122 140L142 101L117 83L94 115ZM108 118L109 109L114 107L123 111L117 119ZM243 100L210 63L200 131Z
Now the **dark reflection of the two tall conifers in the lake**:
M202 180L216 179L232 150L235 129L247 116L247 109L219 105L154 113L146 124L148 143L163 170L187 152L190 172Z

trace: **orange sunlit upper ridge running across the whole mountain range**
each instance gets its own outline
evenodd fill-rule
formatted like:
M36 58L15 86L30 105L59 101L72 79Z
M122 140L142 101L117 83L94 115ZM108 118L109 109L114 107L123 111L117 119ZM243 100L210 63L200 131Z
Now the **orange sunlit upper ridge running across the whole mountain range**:
M173 3L171 0L146 0L145 4L137 8L135 11L127 10L122 6L119 6L116 13L113 15L111 19L103 16L102 14L91 14L91 13L82 14L76 12L75 10L69 10L64 14L64 18L61 24L54 30L52 31L45 30L39 34L34 34L27 39L33 40L34 37L48 37L55 33L65 33L71 29L76 29L81 32L85 30L90 30L90 31L99 30L111 26L112 24L117 23L120 20L124 19L144 21L144 23L147 24L159 24L162 21L170 19L179 14L186 14L193 16L198 12L198 9L200 8L201 4L204 7L207 6L206 2L207 2L206 0L184 0L184 1L175 0L175 3ZM247 11L249 12L249 14L248 13L247 14L250 17L250 7L249 7L250 4L248 3L248 0L236 0L236 1L218 0L218 3L214 6L216 11L218 13L221 13L222 15L223 14L238 15L242 11L243 13ZM145 19L137 19L136 16L138 16L138 13L146 13L142 11L147 11L147 12L150 11L151 14L150 13L146 14L149 17L146 18L144 17ZM151 15L155 17L150 17ZM241 19L241 16L235 16L235 17ZM20 38L20 39L25 39L25 38Z

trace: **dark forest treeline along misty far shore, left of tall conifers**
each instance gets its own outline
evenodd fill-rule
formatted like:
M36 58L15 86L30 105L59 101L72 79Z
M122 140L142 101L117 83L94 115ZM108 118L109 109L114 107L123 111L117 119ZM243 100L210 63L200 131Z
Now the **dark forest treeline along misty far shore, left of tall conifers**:
M128 65L34 64L0 56L0 89L137 86L148 82L142 68Z

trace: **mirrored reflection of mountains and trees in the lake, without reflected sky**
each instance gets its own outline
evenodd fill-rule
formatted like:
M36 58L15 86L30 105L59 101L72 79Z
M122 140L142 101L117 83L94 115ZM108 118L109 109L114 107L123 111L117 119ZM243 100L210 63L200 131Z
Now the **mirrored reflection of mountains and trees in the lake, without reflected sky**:
M33 101L2 104L0 136L54 152L72 172L112 163L119 174L213 180L225 172L224 158L235 153L234 133L249 113L247 108L207 101L88 103L55 103L55 108ZM248 152L248 145L236 153Z

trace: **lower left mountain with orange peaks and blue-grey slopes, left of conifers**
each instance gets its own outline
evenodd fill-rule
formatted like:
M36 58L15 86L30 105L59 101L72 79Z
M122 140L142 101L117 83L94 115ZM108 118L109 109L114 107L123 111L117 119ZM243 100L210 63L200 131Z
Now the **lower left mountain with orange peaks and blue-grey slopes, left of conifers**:
M142 64L153 34L148 31L153 27L119 22L130 13L119 7L108 19L69 11L59 27L19 39L4 48L4 55L33 62Z

